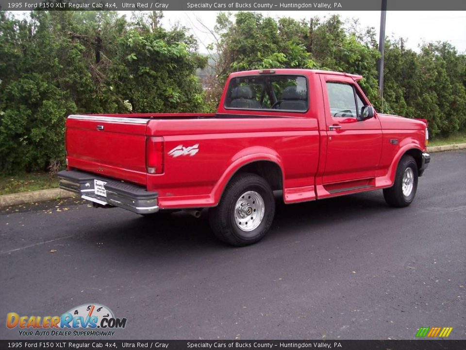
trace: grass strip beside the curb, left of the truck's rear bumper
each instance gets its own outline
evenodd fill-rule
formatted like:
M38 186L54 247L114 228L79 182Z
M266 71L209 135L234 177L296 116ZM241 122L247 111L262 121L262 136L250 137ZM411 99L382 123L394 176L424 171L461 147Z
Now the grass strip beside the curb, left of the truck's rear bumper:
M0 195L57 187L57 175L50 176L47 173L24 173L10 176L0 175Z

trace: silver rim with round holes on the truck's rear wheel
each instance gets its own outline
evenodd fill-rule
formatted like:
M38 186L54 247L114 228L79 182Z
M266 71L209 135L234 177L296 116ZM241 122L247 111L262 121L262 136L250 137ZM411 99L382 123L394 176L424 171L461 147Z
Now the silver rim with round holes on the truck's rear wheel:
M244 192L234 206L234 222L240 230L250 232L261 224L265 211L264 199L259 193Z

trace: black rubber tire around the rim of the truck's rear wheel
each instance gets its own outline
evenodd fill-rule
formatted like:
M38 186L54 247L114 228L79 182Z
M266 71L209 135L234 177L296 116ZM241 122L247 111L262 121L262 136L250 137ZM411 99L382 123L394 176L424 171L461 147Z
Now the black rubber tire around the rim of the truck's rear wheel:
M256 228L244 231L236 224L235 207L240 198L244 198L242 195L249 191L258 193L262 197L264 216ZM264 237L272 225L274 214L275 198L268 182L259 175L242 173L234 176L227 185L218 206L209 210L209 222L216 238L220 241L229 245L244 246L256 243ZM243 223L243 225L247 224L247 222Z

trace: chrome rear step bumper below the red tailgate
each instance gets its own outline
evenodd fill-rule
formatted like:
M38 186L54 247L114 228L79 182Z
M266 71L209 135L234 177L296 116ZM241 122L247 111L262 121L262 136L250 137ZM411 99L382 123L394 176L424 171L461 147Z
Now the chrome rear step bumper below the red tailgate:
M59 187L81 195L81 198L133 211L138 214L157 212L157 192L148 192L142 186L118 181L77 170L65 170L58 173ZM106 182L104 185L106 197L95 193L94 180Z

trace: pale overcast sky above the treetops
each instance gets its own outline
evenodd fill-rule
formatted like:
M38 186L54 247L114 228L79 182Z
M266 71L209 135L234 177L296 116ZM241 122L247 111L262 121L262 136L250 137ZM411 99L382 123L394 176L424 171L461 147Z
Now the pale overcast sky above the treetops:
M361 25L374 27L379 38L380 11L257 11L272 18L320 18L339 14L343 19L359 18ZM121 12L124 13L124 12ZM179 21L191 28L199 40L200 52L213 42L212 36L199 24L198 19L210 29L214 28L215 11L165 11L162 23L166 27ZM387 11L385 35L407 39L408 48L417 50L422 42L449 41L459 52L466 52L466 11Z

